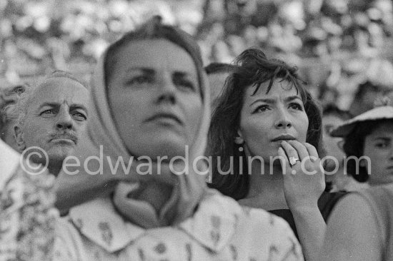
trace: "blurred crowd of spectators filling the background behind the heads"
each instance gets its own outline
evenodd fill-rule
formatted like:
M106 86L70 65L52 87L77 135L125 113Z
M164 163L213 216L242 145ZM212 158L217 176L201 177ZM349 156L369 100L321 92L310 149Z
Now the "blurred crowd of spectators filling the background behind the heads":
M205 66L259 47L354 115L392 88L392 0L2 0L0 86L53 70L88 80L106 46L156 14L196 37Z

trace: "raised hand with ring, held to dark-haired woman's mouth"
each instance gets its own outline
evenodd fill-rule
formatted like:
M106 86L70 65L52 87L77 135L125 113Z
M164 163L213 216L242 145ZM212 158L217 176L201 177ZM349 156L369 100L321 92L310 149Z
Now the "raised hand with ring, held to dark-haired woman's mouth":
M278 150L284 175L284 195L290 210L317 208L324 192L324 170L317 149L297 140L282 142Z

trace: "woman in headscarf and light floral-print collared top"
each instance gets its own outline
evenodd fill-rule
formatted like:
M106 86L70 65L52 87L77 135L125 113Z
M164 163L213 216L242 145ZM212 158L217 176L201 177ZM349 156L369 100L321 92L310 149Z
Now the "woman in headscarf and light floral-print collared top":
M303 259L285 222L241 208L199 175L205 81L196 42L160 19L109 46L93 76L89 138L76 153L85 168L65 163L58 180L60 200L84 202L59 222L57 260Z

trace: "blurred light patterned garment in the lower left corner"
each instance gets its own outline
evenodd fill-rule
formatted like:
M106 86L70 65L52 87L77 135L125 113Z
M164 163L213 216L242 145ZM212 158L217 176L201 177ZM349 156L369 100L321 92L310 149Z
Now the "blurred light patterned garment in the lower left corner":
M53 258L54 176L19 165L19 155L0 140L0 261ZM31 174L33 173L33 174Z

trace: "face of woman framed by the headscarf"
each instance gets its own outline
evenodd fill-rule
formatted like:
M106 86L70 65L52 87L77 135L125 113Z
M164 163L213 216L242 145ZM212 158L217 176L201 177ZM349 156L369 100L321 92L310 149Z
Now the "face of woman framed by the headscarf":
M109 105L132 155L184 155L202 118L197 68L189 53L164 39L120 48L108 79ZM165 158L162 158L165 159Z

